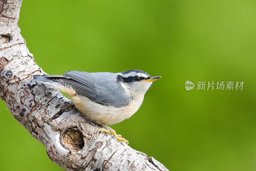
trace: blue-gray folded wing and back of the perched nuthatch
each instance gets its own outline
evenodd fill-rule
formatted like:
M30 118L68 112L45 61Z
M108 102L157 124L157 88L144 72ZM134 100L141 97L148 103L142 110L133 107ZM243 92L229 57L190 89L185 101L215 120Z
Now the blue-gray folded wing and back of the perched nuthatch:
M44 77L70 85L78 95L104 105L121 107L132 99L122 91L114 73L87 73L67 71L64 75L45 75Z

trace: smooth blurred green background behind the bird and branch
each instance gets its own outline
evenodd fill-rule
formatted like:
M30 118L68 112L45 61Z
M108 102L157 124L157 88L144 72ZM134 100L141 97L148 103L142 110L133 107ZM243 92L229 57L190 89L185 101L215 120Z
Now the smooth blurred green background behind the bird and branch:
M21 34L50 75L162 76L138 112L112 125L170 171L255 170L256 1L24 0ZM244 81L243 90L185 82ZM0 101L0 170L62 170Z

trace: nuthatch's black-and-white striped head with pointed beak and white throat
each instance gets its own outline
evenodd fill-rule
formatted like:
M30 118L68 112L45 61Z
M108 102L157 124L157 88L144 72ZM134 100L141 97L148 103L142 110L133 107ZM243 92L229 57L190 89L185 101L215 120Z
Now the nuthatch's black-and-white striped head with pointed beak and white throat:
M144 96L152 82L159 78L161 76L151 77L148 73L138 69L121 72L117 75L117 81L132 96Z

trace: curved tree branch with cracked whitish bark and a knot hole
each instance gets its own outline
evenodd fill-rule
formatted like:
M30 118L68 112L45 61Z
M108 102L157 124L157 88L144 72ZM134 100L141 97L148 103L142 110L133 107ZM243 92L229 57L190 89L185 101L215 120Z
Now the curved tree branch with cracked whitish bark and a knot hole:
M87 121L73 103L31 75L46 74L29 53L18 27L22 0L0 0L0 97L48 157L65 170L161 170L153 157L118 142Z

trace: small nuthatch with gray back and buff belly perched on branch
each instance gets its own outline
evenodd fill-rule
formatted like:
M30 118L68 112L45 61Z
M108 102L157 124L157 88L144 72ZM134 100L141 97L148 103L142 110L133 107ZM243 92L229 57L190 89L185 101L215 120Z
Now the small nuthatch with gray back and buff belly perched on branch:
M102 125L97 137L108 132L128 144L107 125L130 118L140 108L152 82L160 77L132 69L120 73L66 71L64 75L33 75L33 80L60 89L86 118Z

